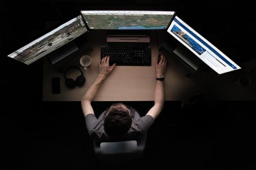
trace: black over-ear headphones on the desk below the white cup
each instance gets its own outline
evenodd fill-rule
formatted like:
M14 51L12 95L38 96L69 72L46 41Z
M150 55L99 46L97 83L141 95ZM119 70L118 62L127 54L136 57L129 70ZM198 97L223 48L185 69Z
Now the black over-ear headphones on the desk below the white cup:
M66 78L67 71L70 70L70 69L73 69L73 68L77 68L81 72L81 75L76 77L75 81L72 78ZM75 85L81 86L85 83L85 77L82 74L82 70L80 68L76 67L76 66L71 66L71 67L67 68L64 72L64 78L65 78L65 85L68 88L73 88Z

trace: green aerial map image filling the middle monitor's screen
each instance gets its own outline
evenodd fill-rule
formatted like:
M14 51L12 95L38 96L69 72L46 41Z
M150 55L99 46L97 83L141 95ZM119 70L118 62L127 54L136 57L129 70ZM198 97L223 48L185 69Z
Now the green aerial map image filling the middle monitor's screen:
M86 15L90 29L165 29L173 15Z

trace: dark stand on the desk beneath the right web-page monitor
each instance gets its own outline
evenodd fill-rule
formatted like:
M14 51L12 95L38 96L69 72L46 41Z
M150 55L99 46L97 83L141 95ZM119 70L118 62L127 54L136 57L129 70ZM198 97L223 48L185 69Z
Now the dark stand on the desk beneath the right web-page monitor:
M174 44L174 40L164 42L160 47L160 51L164 54L166 52L170 53L184 68L186 68L188 71L186 76L194 74L202 65L201 59L189 51L183 44Z

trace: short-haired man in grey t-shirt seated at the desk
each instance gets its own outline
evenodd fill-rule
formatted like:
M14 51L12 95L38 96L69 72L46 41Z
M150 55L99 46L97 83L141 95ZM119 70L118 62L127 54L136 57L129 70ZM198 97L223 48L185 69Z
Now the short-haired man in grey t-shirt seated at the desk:
M97 119L91 107L91 101L96 96L101 83L107 78L116 64L109 66L110 56L99 61L99 75L82 97L82 112L86 127L91 138L97 142L138 140L146 134L164 107L164 75L166 59L155 61L156 87L155 104L143 117L136 110L122 103L115 103L105 110Z

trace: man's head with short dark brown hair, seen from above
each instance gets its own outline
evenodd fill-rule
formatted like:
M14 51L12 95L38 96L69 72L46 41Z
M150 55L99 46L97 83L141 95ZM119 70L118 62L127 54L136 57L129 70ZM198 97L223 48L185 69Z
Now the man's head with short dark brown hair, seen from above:
M104 130L111 137L124 136L130 129L132 118L129 109L122 103L115 103L104 120Z

